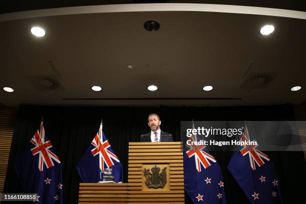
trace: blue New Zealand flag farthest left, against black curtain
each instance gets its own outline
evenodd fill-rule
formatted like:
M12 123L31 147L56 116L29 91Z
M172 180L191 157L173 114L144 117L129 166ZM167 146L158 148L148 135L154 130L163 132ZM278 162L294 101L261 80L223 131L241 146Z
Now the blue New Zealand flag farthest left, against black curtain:
M14 167L23 193L37 193L33 202L62 203L61 164L44 135L42 121Z

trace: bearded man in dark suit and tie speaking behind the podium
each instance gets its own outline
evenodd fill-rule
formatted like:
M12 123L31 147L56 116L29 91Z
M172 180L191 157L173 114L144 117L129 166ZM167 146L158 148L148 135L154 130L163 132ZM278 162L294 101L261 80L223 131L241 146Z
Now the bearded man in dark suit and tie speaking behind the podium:
M161 121L159 116L155 113L150 114L147 117L147 125L150 127L151 131L147 134L141 134L140 141L147 142L163 142L163 141L173 141L172 135L161 131L159 125Z

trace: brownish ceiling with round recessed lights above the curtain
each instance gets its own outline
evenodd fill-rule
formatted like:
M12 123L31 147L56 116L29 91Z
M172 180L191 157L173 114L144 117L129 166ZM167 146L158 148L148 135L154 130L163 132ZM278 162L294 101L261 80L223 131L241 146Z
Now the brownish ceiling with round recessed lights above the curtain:
M0 21L0 103L299 104L306 100L305 18L183 10L12 17ZM146 31L149 19L160 29ZM261 35L264 24L275 31ZM33 36L34 25L46 35ZM48 90L50 78L55 89ZM150 84L158 90L148 91ZM302 89L290 91L295 85Z

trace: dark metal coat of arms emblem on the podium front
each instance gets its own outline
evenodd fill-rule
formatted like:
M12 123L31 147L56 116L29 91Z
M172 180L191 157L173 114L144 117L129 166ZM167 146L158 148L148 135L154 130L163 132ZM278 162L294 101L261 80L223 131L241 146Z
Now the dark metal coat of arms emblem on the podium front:
M145 184L148 188L163 188L166 184L166 168L164 167L159 173L160 168L156 165L151 168L152 173L150 173L149 169L144 168L143 173L146 178Z

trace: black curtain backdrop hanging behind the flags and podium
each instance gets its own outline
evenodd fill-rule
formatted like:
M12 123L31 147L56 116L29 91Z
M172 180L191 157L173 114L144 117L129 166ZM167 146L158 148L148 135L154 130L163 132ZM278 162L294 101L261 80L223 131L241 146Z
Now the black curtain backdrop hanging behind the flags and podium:
M149 132L147 116L157 113L160 128L180 140L180 121L183 120L294 120L289 104L270 106L224 107L85 107L21 105L12 138L5 193L21 192L19 178L13 168L16 159L38 129L41 117L45 134L51 140L62 164L63 203L77 203L80 177L76 164L88 148L103 118L103 132L119 157L127 182L128 142L139 141ZM227 203L248 203L246 196L227 170L232 152L212 152L220 164ZM305 161L302 152L267 152L273 161L285 203L302 203L305 182ZM191 203L188 196L185 202ZM294 202L293 202L294 200ZM12 202L9 202L12 203Z

